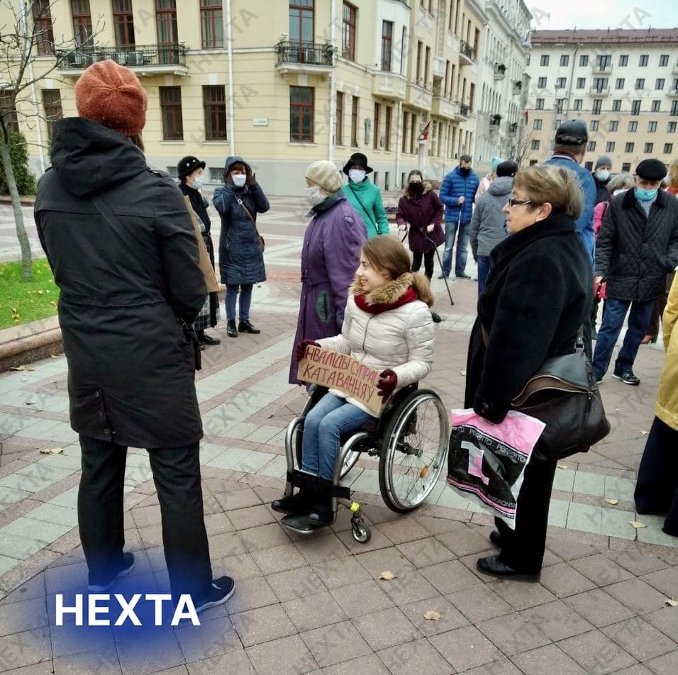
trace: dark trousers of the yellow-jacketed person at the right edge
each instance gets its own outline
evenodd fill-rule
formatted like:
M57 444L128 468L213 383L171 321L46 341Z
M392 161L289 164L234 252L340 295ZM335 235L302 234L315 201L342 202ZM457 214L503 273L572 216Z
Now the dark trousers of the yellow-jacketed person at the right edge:
M678 537L678 431L655 417L635 482L638 513L666 515L667 535Z

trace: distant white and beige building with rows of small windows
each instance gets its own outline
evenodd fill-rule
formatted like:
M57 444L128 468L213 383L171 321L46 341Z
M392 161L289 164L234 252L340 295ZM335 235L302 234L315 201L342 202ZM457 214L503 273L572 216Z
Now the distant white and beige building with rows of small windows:
M550 155L565 119L587 123L589 168L600 155L614 172L676 157L678 28L537 30L528 74L530 163Z

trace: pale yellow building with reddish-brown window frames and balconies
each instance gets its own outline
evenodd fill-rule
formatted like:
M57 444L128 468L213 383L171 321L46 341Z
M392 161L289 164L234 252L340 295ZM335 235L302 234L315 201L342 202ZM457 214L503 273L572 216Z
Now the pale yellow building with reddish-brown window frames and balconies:
M206 182L218 184L237 153L269 194L300 194L310 162L342 166L360 151L382 188L400 187L416 167L440 178L474 153L479 109L484 121L516 117L508 89L525 55L484 40L492 16L517 27L529 13L522 0L485 4L487 12L482 0L41 0L38 82L18 101L18 125L40 174L52 121L77 114L77 78L111 58L148 91L146 155L170 174L196 155ZM77 49L40 79L55 64L52 40L62 39ZM506 91L496 89L494 61L491 87L482 86L484 62L504 52ZM487 166L498 146L482 147L477 164Z

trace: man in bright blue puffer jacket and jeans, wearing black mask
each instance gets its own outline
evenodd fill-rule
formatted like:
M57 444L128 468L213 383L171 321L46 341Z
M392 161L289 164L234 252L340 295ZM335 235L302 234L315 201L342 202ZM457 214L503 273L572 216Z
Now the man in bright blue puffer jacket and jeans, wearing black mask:
M438 277L449 277L452 272L452 249L457 238L457 260L455 275L457 279L470 279L466 274L466 259L468 257L469 225L473 215L473 201L480 184L478 174L471 169L470 155L462 155L459 166L455 167L443 179L440 187L440 201L445 204L445 251L443 252L443 274Z

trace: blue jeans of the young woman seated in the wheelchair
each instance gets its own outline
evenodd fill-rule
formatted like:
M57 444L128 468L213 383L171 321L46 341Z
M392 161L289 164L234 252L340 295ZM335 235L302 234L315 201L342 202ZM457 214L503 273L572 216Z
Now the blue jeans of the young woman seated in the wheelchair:
M304 420L301 468L331 481L339 455L340 436L357 429L372 415L343 398L325 394Z

